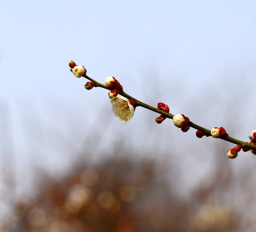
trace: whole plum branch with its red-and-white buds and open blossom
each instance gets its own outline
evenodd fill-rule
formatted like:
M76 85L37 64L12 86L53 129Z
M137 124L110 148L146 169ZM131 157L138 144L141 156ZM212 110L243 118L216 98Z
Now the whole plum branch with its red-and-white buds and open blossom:
M173 119L174 125L178 128L181 128L183 132L188 131L190 127L195 128L197 130L196 136L198 138L202 138L205 135L207 137L212 135L212 137L214 138L220 138L238 144L234 146L234 148L228 150L227 155L229 158L237 157L237 153L241 150L241 148L243 149L243 151L251 151L253 154L256 154L256 129L252 131L252 136L249 136L251 142L243 142L230 137L223 127L214 127L210 131L207 130L206 128L200 127L192 123L189 120L189 118L184 116L183 114L173 115L169 113L168 105L162 102L159 102L157 104L157 108L155 108L153 106L147 105L143 102L136 100L135 98L129 96L123 91L123 87L114 77L107 77L104 81L105 85L103 85L88 77L86 75L87 71L84 68L84 66L76 65L74 61L70 61L69 67L71 68L71 71L73 72L74 76L85 77L88 80L90 80L84 86L87 90L92 89L94 86L111 90L109 92L109 97L111 98L110 102L112 103L112 113L115 116L119 117L121 123L126 123L127 121L130 121L134 115L134 110L136 106L142 106L151 111L161 114L159 117L156 118L157 123L162 123L162 121L164 121L166 118L171 118ZM122 96L117 96L118 94Z

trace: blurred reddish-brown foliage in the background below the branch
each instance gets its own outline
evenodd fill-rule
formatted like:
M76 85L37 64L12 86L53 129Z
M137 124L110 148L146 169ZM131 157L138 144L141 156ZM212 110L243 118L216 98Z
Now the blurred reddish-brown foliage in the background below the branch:
M161 163L109 158L40 183L39 196L16 204L2 231L244 231L237 210L214 197L231 185L229 165L217 166L213 180L184 200Z

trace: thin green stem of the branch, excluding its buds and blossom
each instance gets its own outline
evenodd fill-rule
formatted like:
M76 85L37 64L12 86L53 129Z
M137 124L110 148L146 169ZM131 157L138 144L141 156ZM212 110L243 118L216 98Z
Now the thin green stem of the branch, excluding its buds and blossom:
M85 76L85 78L87 78L88 80L94 82L95 87L101 87L101 88L108 89L108 90L111 91L111 89L109 89L108 87L106 87L104 84L101 84L101 83L99 83L99 82L93 80L92 78L88 77L87 75ZM143 102L141 102L141 101L138 101L138 100L135 99L134 97L132 97L132 96L128 95L127 93L125 93L124 91L120 91L119 94L122 95L122 96L124 96L124 97L126 97L126 98L128 98L128 99L130 99L130 100L135 101L138 106L142 106L142 107L144 107L144 108L146 108L146 109L149 109L149 110L154 111L154 112L156 112L156 113L162 114L162 115L166 116L167 118L173 119L173 117L174 117L173 114L166 113L166 112L164 112L164 111L162 111L162 110L160 110L160 109L158 109L158 108L155 108L155 107L150 106L150 105L147 105L147 104L145 104L145 103L143 103ZM189 125L190 127L194 128L194 129L196 129L196 130L200 130L200 131L204 132L207 137L208 137L208 136L211 136L211 131L210 131L210 130L207 130L207 129L204 128L204 127L200 127L200 126L198 126L198 125L192 123L191 121L188 123L188 125ZM226 140L226 141L228 141L228 142L231 142L231 143L234 143L234 144L237 144L237 145L238 145L238 144L241 144L244 148L250 148L250 149L256 150L256 145L252 145L252 144L249 144L249 143L240 141L240 140L238 140L238 139L234 139L234 138L230 137L228 134L222 135L222 136L220 137L220 139Z

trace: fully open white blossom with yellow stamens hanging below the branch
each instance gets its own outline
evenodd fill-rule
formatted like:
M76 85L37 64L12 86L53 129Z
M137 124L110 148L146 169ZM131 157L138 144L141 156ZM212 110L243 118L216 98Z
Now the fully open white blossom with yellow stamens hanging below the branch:
M134 108L126 97L114 97L110 100L110 102L112 104L113 115L119 117L121 123L131 121L134 114Z

